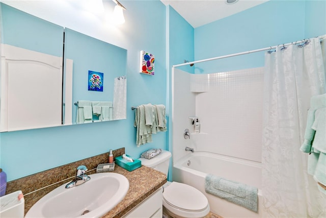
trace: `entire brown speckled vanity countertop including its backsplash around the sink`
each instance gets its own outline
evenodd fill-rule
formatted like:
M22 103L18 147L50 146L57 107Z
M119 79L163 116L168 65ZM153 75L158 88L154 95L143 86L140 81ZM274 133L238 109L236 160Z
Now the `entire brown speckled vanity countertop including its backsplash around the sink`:
M113 151L115 157L124 153L124 148ZM89 169L92 169L87 172L88 175L91 175L96 172L94 169L98 164L107 163L107 160L108 153L104 153L10 181L7 183L6 194L21 190L24 194L26 214L48 192L71 181L69 178L74 177L78 165L86 165ZM122 174L128 179L129 190L125 198L117 206L103 215L105 218L122 217L167 182L164 173L146 166L141 166L129 172L116 164L113 172Z

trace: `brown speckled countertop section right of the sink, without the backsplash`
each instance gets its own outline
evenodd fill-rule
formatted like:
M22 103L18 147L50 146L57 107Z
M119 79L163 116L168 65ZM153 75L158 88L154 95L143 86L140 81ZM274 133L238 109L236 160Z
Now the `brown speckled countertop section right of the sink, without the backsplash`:
M102 216L105 218L122 217L167 182L164 173L147 166L129 172L116 164L113 172L122 174L129 180L129 190L117 206Z

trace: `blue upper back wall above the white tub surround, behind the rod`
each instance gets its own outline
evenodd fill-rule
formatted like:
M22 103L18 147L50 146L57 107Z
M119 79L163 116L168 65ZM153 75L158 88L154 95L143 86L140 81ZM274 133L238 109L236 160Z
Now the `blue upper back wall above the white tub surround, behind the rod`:
M195 59L219 57L319 36L325 1L268 1L195 29ZM195 73L260 67L264 52L196 64Z

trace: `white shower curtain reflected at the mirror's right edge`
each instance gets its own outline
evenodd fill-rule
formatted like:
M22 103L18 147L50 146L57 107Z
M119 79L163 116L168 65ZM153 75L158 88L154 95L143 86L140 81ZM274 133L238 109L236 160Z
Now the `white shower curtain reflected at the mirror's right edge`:
M113 119L126 119L127 110L127 78L126 76L114 79Z

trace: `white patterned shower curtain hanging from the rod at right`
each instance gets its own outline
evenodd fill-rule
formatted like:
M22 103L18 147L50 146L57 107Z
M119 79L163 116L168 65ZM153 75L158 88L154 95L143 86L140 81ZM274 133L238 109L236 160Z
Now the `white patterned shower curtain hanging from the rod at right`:
M265 55L262 136L264 217L324 217L325 196L307 174L303 142L310 98L325 93L318 38Z

